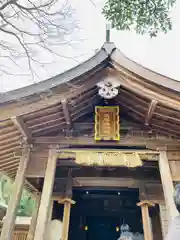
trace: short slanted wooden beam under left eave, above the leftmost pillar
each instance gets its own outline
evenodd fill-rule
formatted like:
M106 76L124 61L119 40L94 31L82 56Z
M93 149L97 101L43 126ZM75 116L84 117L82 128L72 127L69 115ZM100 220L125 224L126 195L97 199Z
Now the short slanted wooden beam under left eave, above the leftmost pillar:
M14 116L11 117L11 120L23 135L24 140L27 142L31 142L31 133L27 128L26 124L24 123L23 119L20 116Z

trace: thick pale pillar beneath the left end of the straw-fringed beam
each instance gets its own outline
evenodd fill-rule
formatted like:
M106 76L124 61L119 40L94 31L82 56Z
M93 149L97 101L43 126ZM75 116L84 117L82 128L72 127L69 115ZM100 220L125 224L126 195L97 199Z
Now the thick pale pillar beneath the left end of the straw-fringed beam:
M51 202L51 196L54 185L54 177L56 171L57 154L55 149L49 150L48 162L45 172L44 185L41 195L41 202L37 218L34 240L43 240L46 223L48 221L48 213Z

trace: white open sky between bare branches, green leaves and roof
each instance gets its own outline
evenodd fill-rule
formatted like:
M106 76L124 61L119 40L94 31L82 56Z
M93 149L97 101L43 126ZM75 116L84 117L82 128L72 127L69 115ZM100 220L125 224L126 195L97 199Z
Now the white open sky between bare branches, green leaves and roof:
M0 78L0 92L17 89L45 80L87 60L105 42L107 21L101 14L104 0L69 0L75 10L74 17L79 29L72 34L72 44L59 46L58 52L64 56L55 58L51 64L36 67L38 78L24 75L3 75ZM180 0L172 11L173 30L151 39L148 35L111 29L114 42L127 57L168 77L180 80ZM43 54L41 58L45 58ZM22 69L23 73L23 69Z

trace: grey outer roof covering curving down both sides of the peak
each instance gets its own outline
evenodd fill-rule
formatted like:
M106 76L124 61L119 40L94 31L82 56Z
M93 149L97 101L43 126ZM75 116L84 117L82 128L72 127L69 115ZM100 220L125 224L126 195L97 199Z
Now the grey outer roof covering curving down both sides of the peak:
M0 95L0 103L19 100L30 95L46 92L51 88L59 86L60 84L67 83L81 77L105 62L107 64L114 64L114 67L117 67L117 70L118 66L120 66L138 77L144 78L144 80L149 81L151 84L156 84L169 90L177 91L178 93L180 92L180 81L168 78L134 62L117 49L114 43L107 42L93 57L68 71L39 83L3 93Z

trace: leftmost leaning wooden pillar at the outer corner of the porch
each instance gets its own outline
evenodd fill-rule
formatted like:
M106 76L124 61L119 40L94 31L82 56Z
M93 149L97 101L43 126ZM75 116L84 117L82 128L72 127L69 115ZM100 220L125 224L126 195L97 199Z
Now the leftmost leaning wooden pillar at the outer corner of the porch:
M22 156L20 158L19 167L17 170L16 178L13 184L13 190L8 204L8 209L6 212L2 232L1 240L11 240L16 220L17 208L21 199L24 181L25 181L25 172L28 166L30 158L30 147L26 145L22 150Z

